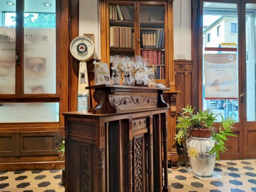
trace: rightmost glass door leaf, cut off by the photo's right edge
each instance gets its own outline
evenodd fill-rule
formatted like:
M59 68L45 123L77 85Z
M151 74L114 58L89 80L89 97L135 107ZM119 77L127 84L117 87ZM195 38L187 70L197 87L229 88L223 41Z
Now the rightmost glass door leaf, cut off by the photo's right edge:
M246 108L244 118L244 157L256 158L256 4L246 3L245 7L245 65L244 88L241 94Z

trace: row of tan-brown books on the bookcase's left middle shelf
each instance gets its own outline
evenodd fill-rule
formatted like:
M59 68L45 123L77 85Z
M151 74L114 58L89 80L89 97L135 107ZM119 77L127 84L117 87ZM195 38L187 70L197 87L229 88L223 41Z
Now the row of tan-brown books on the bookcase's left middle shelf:
M134 48L132 28L110 27L110 48Z

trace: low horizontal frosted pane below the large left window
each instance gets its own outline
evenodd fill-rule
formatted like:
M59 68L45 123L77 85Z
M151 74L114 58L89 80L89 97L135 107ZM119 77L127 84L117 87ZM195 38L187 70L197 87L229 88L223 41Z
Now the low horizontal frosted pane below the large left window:
M0 123L59 122L59 103L4 103Z

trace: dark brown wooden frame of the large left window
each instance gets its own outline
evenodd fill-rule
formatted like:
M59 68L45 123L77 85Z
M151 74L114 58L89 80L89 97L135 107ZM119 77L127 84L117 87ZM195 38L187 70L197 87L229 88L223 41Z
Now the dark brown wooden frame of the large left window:
M56 102L60 101L60 0L56 2L56 91L55 94L24 94L24 0L16 1L15 55L20 55L20 64L15 61L15 94L0 94L0 102ZM5 11L7 12L7 11ZM26 12L27 13L27 12ZM29 13L29 12L28 12ZM33 12L35 13L35 12ZM52 13L52 12L46 12ZM2 12L4 14L4 12ZM3 16L3 15L2 15ZM2 17L3 18L3 17ZM3 18L4 19L4 18ZM10 100L11 99L11 100Z

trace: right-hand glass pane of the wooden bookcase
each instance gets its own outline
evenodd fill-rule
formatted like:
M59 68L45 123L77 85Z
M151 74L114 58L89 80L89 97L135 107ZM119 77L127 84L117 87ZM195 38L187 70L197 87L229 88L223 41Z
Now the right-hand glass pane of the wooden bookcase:
M165 79L164 6L141 6L140 39L142 60L155 67L156 79Z

